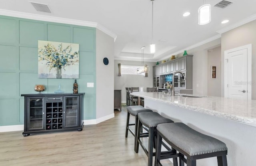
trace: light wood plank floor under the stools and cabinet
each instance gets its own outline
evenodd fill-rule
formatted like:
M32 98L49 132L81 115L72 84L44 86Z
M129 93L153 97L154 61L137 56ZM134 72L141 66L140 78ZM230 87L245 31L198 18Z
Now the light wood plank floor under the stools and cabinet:
M22 136L22 131L0 133L0 166L147 166L134 136L125 138L126 108L115 117L81 132L54 132ZM131 116L131 120L134 118ZM146 141L146 138L144 138ZM172 166L169 160L164 166Z

